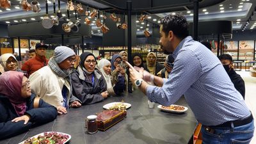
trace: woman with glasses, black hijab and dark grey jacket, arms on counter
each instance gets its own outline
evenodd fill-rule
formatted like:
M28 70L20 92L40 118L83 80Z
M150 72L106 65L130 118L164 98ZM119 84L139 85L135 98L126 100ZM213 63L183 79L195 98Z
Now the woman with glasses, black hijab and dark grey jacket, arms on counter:
M107 84L99 70L95 56L91 52L83 52L80 55L80 63L77 70L71 74L73 95L82 104L94 104L108 97Z

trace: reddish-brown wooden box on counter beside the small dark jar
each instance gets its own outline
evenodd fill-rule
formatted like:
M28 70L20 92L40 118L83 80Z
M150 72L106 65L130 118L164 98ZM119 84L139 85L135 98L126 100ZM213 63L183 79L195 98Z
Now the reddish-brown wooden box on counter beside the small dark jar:
M123 120L126 116L126 111L104 110L97 114L97 125L100 131L106 131L116 123Z

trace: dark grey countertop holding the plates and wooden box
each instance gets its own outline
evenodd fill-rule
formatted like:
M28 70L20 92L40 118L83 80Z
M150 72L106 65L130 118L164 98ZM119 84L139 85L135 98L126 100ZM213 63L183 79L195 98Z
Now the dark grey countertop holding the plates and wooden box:
M124 99L130 103L127 117L107 131L98 131L96 134L87 134L85 119L88 115L99 113L102 106L109 102L120 102ZM175 104L188 107L184 97ZM68 109L67 115L59 115L56 120L10 139L0 141L3 143L19 143L31 136L45 131L65 132L72 136L72 144L150 144L150 143L188 143L195 129L196 120L189 108L186 113L173 114L160 111L155 104L154 109L147 106L147 97L136 90L126 93L122 97L108 97L97 104Z

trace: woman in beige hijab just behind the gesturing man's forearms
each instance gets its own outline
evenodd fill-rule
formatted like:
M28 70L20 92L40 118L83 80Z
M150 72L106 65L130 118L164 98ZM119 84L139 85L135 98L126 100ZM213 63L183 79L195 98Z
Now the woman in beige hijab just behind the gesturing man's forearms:
M145 70L157 76L157 73L164 68L164 65L161 65L156 61L156 53L149 52L147 55L147 64L145 65Z

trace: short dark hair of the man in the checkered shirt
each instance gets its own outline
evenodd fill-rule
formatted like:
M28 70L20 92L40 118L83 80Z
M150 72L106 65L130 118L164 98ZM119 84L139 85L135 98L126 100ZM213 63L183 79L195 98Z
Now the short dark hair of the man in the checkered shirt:
M169 31L172 31L178 38L186 38L188 36L188 22L184 15L167 15L161 19L163 32L167 36Z

